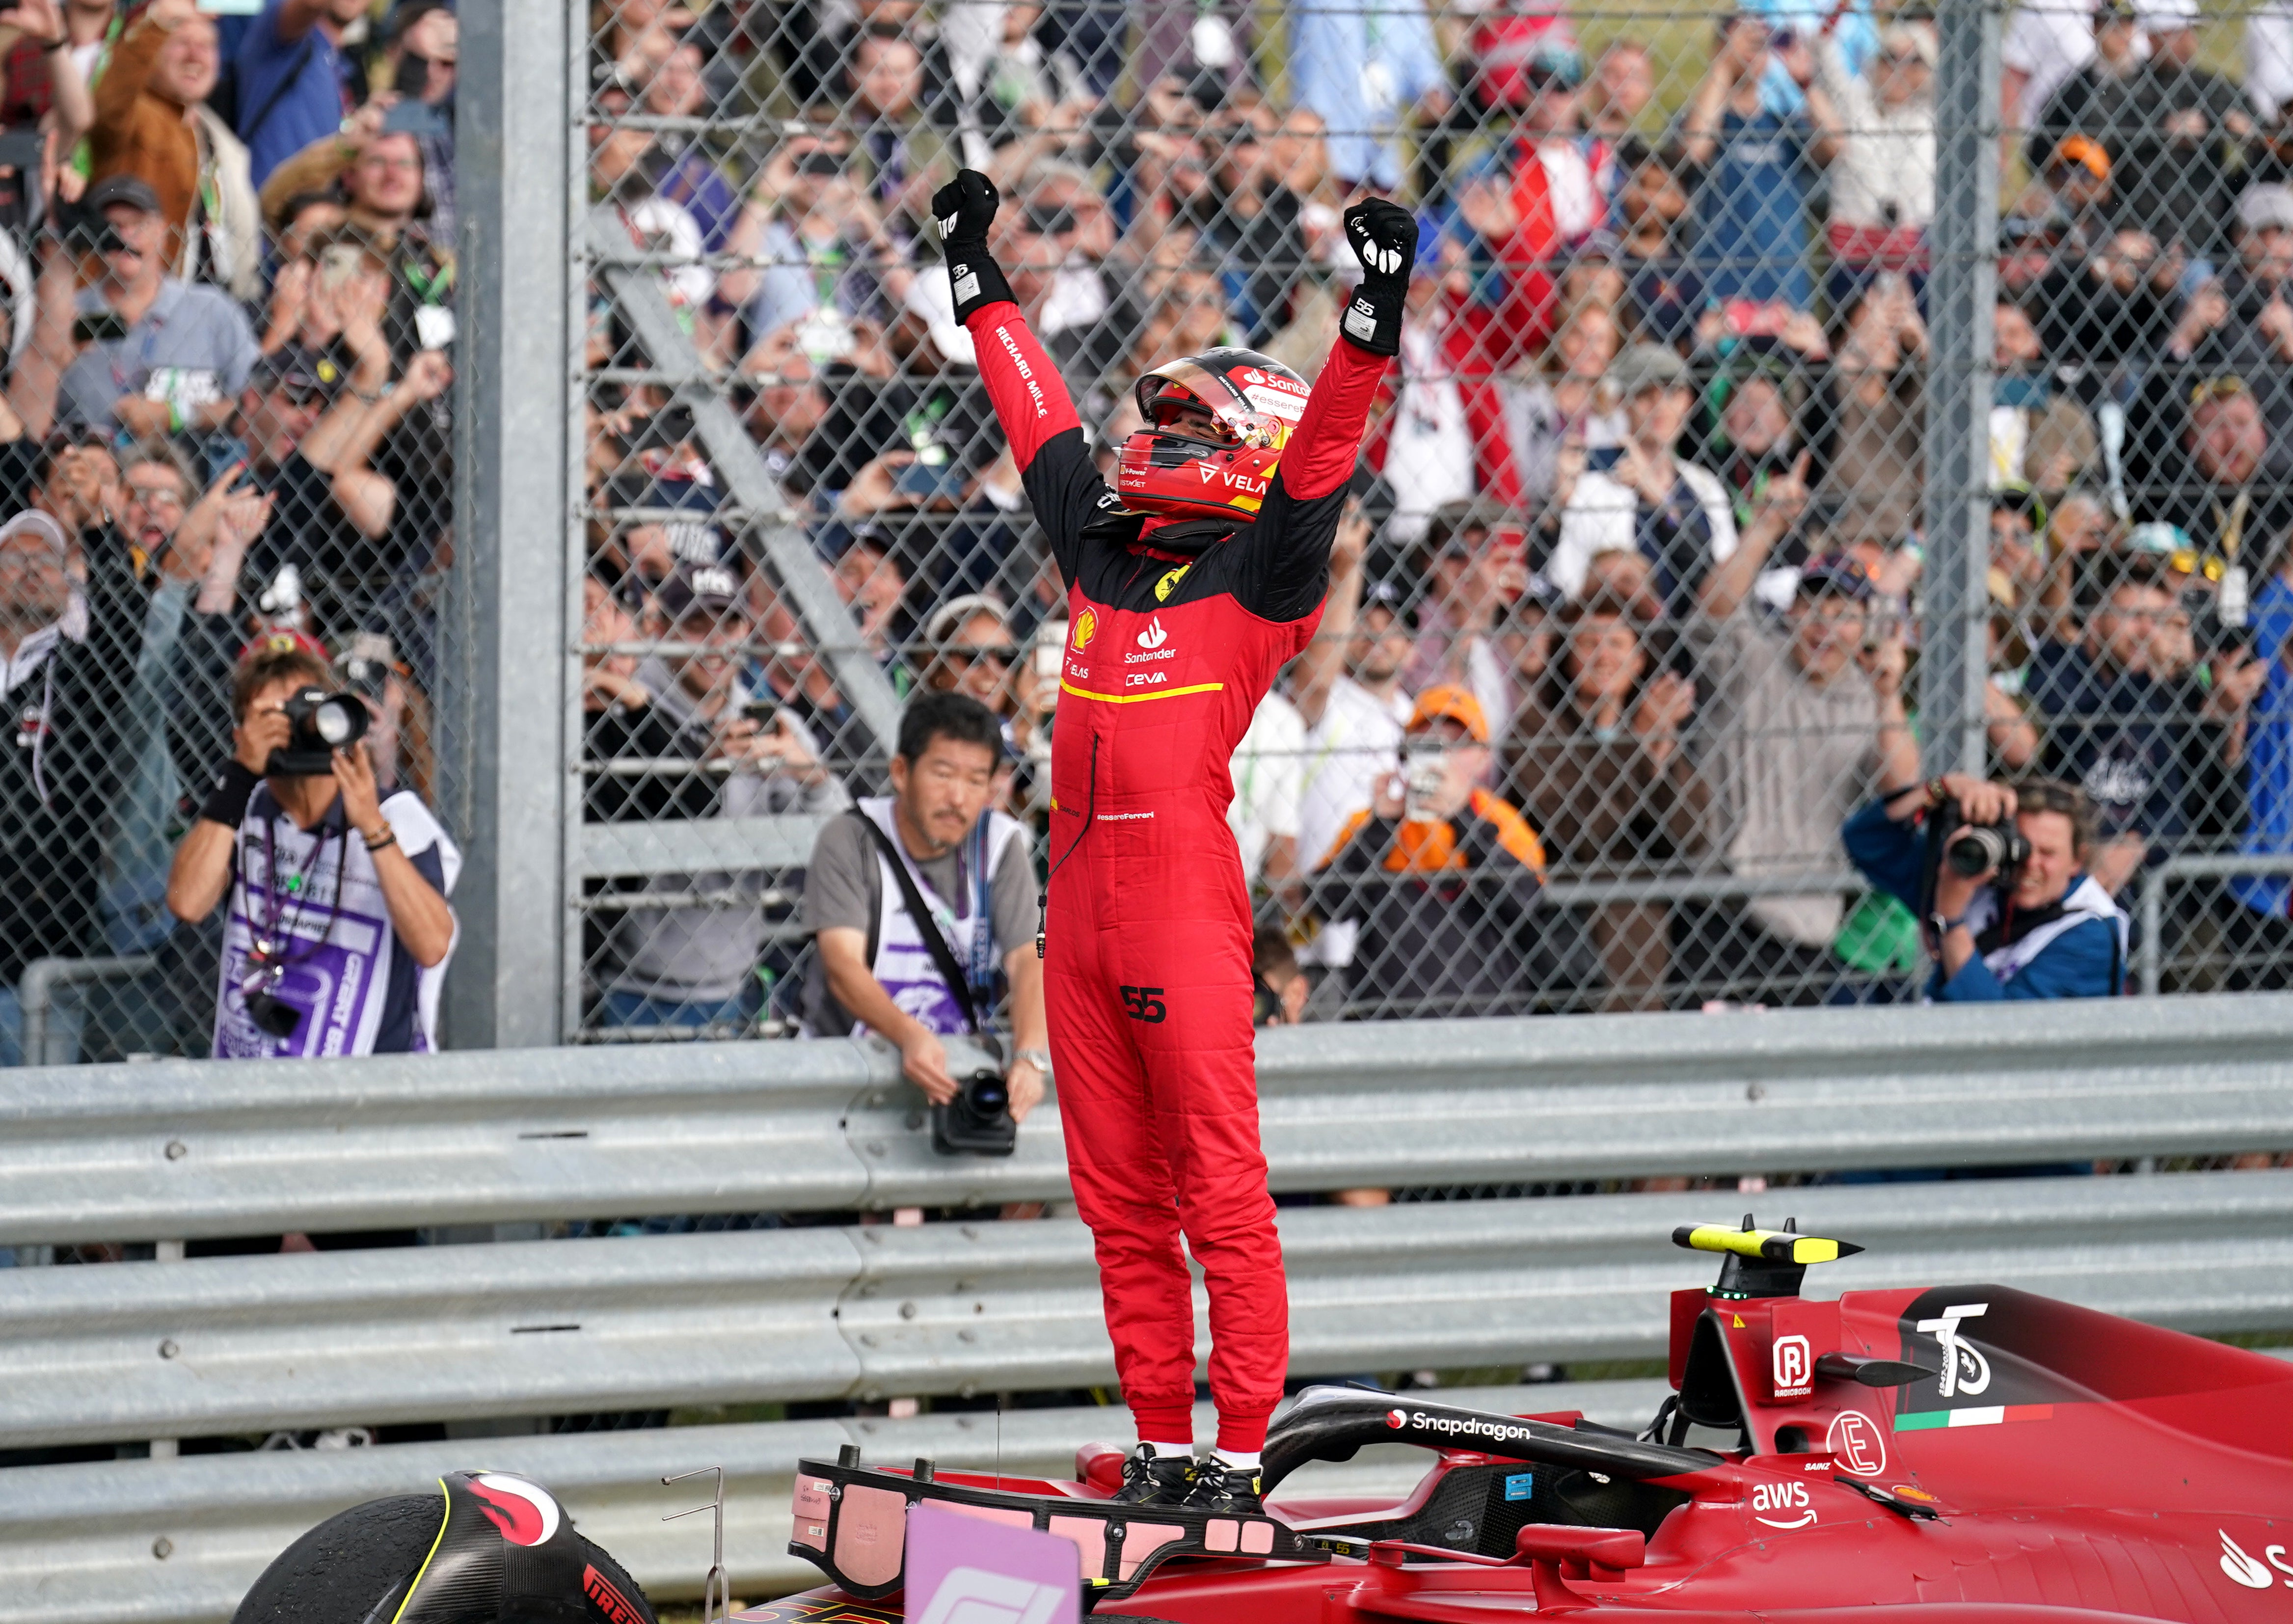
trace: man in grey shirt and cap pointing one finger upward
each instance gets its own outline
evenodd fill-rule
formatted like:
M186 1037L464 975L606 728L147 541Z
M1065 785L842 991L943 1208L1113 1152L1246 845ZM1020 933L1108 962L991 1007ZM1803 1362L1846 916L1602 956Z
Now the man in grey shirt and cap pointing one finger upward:
M1782 498L1775 486L1786 486ZM1800 505L1798 479L1768 502ZM1701 771L1722 826L1717 849L1740 876L1844 865L1839 826L1876 784L1919 782L1919 748L1903 713L1903 628L1873 631L1871 578L1844 555L1809 560L1782 624L1750 603L1782 523L1745 528L1743 546L1704 580L1690 645L1711 684ZM1683 973L1784 1002L1825 1002L1839 989L1832 938L1837 890L1750 897L1692 908ZM1717 991L1713 986L1704 989ZM1724 991L1738 991L1727 986Z

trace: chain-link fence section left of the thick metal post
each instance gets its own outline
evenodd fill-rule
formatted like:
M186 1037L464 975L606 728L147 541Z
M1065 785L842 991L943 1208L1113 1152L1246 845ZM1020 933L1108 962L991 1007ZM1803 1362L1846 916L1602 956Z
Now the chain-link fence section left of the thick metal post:
M452 796L454 57L436 5L0 14L0 1064L209 1053L250 908L170 869L243 651L358 695L390 819ZM277 874L305 979L376 963L342 851Z

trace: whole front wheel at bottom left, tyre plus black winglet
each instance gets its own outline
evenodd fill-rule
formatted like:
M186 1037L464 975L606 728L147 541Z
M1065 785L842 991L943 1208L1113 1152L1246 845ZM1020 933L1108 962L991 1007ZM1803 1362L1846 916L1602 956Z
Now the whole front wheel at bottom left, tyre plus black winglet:
M232 1624L658 1624L619 1562L541 1484L447 1473L296 1539Z

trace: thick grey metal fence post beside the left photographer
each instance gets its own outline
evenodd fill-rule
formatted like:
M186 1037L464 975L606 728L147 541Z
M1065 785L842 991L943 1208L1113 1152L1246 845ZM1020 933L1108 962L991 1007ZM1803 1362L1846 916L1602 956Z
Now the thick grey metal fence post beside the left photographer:
M447 977L454 1046L555 1044L564 911L566 420L571 317L566 0L472 7L456 99L461 679L468 837Z

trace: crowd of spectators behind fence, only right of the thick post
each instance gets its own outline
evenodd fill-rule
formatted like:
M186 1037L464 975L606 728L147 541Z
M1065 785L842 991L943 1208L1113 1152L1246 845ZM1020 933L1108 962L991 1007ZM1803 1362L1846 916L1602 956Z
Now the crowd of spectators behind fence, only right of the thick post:
M2275 11L2227 76L2194 21L2009 16L1990 601L1947 610L1988 622L1993 775L2084 796L2077 872L2128 901L2174 853L2293 851L2293 140L2268 89L2293 73ZM722 452L670 397L594 395L624 514L592 534L596 615L658 633L679 569L745 583L745 720L686 741L692 814L731 807L748 727L768 778L876 787L867 661L986 702L997 805L1041 828L1066 612L936 275L933 186L997 179L997 259L1103 459L1160 360L1245 344L1312 374L1339 209L1378 190L1419 216L1401 358L1229 812L1307 1014L1919 996L1922 897L1855 879L1841 828L1919 778L1935 71L1917 0L1651 37L1417 0L612 11L594 195L665 255L858 638L807 631L782 567L706 518ZM635 351L601 298L592 360ZM610 764L633 672L603 642L589 810L654 817ZM656 690L635 677L637 709ZM2171 897L2174 982L2286 975L2284 881ZM738 915L738 1014L793 1014L782 908ZM610 1005L631 957L592 947ZM736 1014L695 991L649 1018Z

